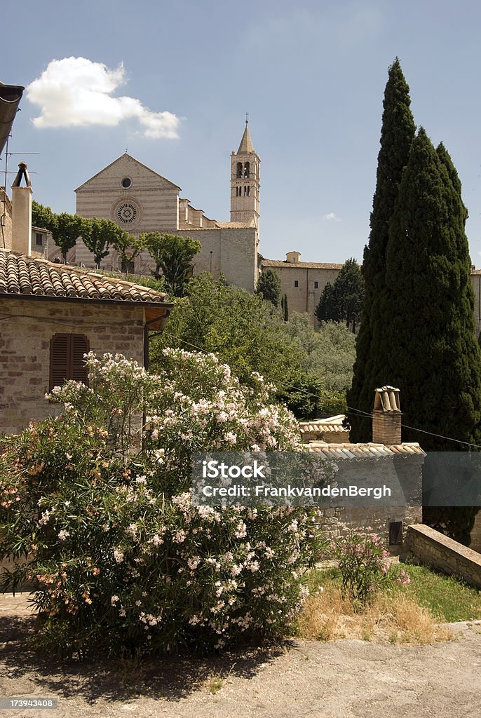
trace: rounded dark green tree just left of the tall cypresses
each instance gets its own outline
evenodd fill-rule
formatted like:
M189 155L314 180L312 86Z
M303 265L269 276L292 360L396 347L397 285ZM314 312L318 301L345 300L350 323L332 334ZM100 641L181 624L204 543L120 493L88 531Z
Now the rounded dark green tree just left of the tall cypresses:
M334 284L327 282L316 307L319 322L345 322L355 332L364 302L364 279L358 262L347 259Z

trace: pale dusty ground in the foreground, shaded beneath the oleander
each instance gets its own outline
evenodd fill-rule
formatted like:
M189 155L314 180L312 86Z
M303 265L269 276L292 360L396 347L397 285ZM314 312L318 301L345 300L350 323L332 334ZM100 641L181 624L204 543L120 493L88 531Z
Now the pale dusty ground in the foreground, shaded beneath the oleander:
M391 645L291 640L208 659L60 663L32 653L27 595L0 595L0 696L58 699L6 717L480 718L481 622L455 640Z

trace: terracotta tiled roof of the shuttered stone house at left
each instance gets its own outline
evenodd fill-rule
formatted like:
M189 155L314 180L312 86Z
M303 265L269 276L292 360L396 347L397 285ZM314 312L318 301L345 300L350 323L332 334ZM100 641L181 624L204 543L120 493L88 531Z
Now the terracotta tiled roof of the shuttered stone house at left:
M56 264L46 259L0 250L0 296L91 299L166 304L169 297L146 286L95 273L92 269Z

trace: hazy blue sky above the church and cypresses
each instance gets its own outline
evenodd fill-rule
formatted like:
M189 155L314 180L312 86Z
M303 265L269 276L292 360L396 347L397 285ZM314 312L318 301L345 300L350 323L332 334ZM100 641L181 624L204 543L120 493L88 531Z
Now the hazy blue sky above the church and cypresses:
M398 55L416 123L457 167L481 266L476 1L24 0L8 21L0 80L37 80L17 114L9 149L21 154L9 169L27 159L39 202L73 213L75 187L128 148L207 216L228 220L230 152L248 111L268 258L293 249L306 261L362 258ZM52 64L71 57L88 62Z

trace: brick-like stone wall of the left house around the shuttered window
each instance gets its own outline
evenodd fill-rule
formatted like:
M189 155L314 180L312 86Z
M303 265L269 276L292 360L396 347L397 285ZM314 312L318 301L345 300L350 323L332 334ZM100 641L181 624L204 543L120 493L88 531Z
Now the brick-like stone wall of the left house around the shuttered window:
M17 433L30 419L58 411L45 400L50 340L60 332L85 334L97 354L121 353L142 364L144 307L83 302L2 299L0 432Z

